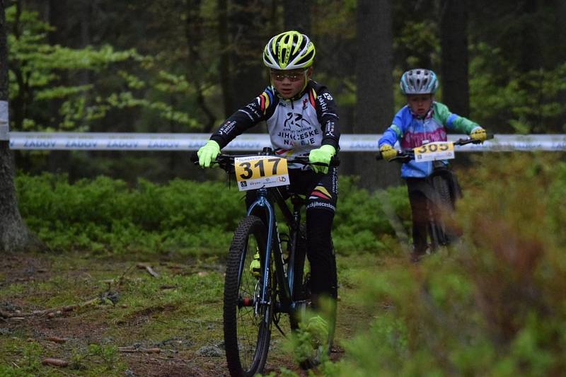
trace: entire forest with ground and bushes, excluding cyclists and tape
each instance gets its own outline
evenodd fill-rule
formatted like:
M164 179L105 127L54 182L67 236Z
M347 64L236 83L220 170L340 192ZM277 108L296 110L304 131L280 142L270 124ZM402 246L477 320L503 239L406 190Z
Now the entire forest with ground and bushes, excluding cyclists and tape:
M333 93L342 133L383 132L404 103L400 74L416 66L437 72L439 100L490 132L566 132L563 0L0 6L0 100L13 131L212 132L267 85L265 42L296 28L316 44L314 79ZM399 167L341 154L333 241L345 352L321 373L563 374L563 153L460 153L470 162L457 166L465 237L420 265L400 237L411 222ZM41 364L49 356L84 376L226 373L221 352L201 352L221 344L222 258L243 214L221 178L186 152L9 151L0 141L0 374L66 375ZM15 253L34 247L52 253ZM131 344L165 356L119 354ZM282 344L267 373L302 373Z

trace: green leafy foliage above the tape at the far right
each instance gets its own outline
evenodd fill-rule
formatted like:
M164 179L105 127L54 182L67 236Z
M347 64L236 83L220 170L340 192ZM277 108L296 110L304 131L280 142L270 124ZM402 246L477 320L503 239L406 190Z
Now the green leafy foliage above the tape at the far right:
M521 74L497 48L479 43L471 50L473 119L499 129L507 125L520 134L565 132L562 95L566 92L566 64Z

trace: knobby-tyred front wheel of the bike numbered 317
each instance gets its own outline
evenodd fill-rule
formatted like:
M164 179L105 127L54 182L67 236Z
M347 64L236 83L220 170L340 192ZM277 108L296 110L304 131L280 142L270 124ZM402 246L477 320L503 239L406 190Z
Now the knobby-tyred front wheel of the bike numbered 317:
M267 303L260 303L263 279L250 271L255 253L261 255L265 250L266 235L259 217L246 216L230 245L224 279L224 346L231 376L261 373L267 359L272 323L271 280L268 279Z

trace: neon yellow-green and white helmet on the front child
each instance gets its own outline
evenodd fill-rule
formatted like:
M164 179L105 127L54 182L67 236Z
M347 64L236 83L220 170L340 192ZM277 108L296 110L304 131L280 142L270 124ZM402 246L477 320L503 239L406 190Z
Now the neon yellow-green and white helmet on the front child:
M272 69L298 69L313 65L314 44L298 31L286 31L272 37L263 49L263 63Z

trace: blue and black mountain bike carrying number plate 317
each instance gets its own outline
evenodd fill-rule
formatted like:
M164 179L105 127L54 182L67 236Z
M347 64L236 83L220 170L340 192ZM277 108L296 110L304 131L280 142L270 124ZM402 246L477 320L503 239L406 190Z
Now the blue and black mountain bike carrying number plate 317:
M196 153L191 160L198 163ZM279 332L282 313L289 315L291 330L297 330L311 307L309 267L306 258L306 226L301 209L306 199L290 194L287 204L280 187L289 185L287 164L309 165L308 157L282 158L271 149L255 155L219 154L215 163L235 175L240 190L255 190L253 203L240 221L230 245L224 279L224 346L231 376L261 373L270 347L272 325ZM339 160L333 158L331 166ZM292 209L291 209L292 207ZM287 224L280 232L276 219L279 208ZM260 255L260 275L250 269L254 255ZM333 258L333 286L337 286ZM301 362L304 369L316 366L330 352L335 313L330 315L326 346L313 349Z

